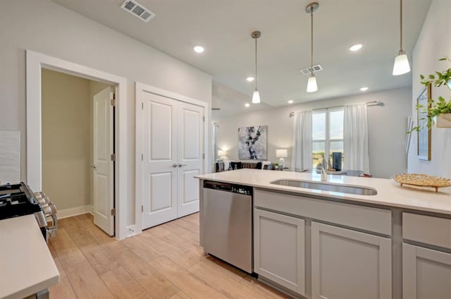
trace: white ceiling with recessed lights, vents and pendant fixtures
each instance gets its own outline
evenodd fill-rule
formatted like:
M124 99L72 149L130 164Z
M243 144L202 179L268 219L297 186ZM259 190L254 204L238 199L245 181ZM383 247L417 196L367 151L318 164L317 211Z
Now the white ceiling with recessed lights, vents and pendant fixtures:
M123 0L52 0L148 44L213 76L213 107L237 109L250 101L254 83L254 30L258 39L259 107L342 97L412 85L412 73L393 76L400 44L398 0L320 0L314 13L314 64L319 91L307 93L310 16L306 0L139 0L156 13L144 23L120 6ZM403 48L412 49L431 0L404 0ZM362 50L351 52L360 42ZM204 54L192 51L202 44Z

